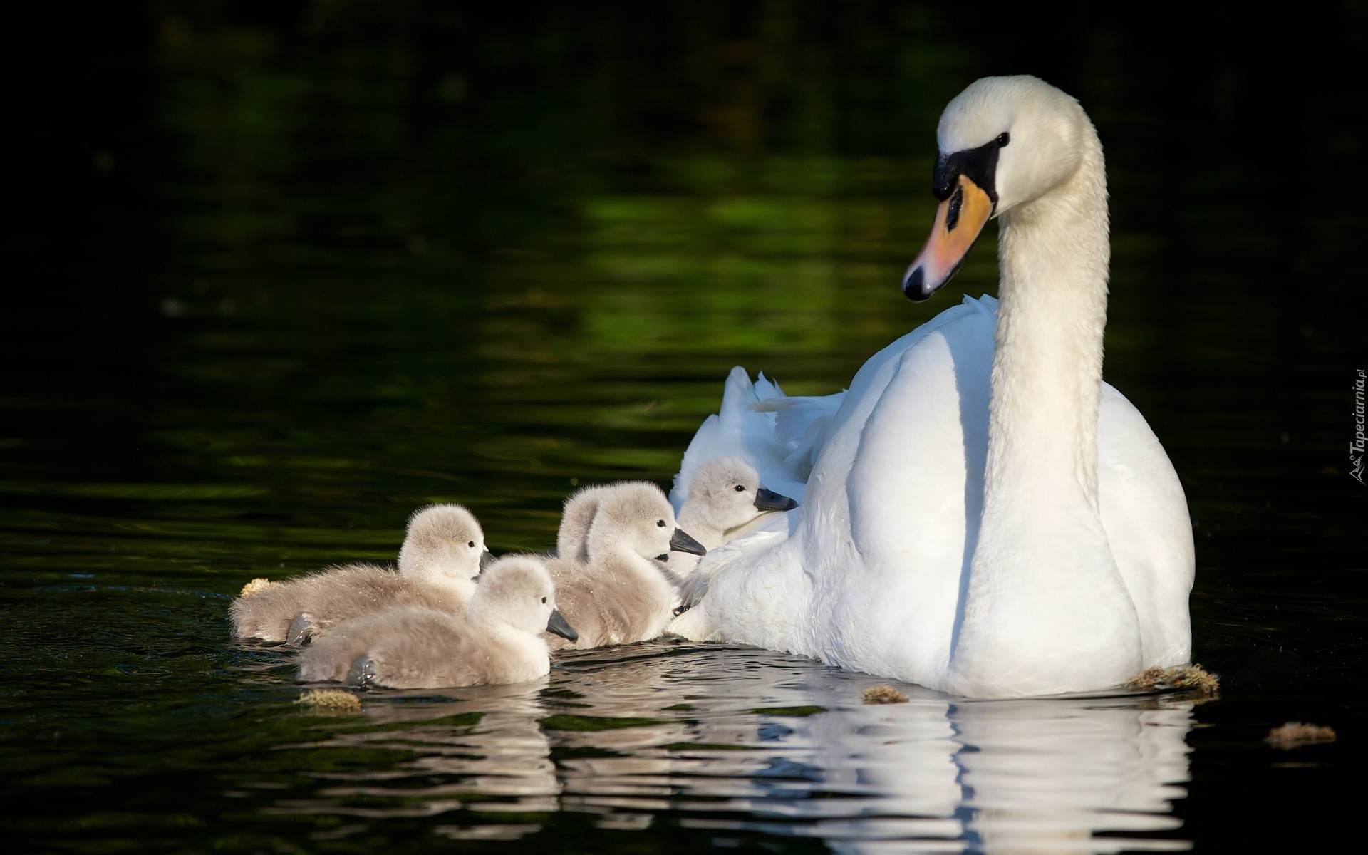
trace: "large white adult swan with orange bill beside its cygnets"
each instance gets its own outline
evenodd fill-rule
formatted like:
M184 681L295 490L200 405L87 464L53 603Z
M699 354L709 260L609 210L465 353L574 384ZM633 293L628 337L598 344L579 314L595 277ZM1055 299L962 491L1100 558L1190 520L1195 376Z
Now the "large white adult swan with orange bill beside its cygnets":
M1145 419L1101 382L1097 133L1053 86L997 77L949 103L937 142L941 204L903 290L930 297L997 216L1000 305L940 313L844 395L784 398L735 371L677 487L733 453L806 494L705 560L706 594L673 629L977 698L1183 663L1187 503Z

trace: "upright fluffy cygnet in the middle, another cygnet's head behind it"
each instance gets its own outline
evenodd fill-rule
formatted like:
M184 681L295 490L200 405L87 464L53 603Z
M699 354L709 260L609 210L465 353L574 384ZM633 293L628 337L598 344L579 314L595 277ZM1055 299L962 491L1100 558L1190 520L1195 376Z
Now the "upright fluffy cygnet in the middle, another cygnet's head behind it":
M679 605L677 583L662 570L659 560L672 551L706 551L674 525L674 510L655 484L611 484L598 488L596 498L583 538L584 558L576 561L570 553L549 562L561 611L579 631L573 644L549 639L557 650L659 636ZM570 520L570 525L577 524Z

